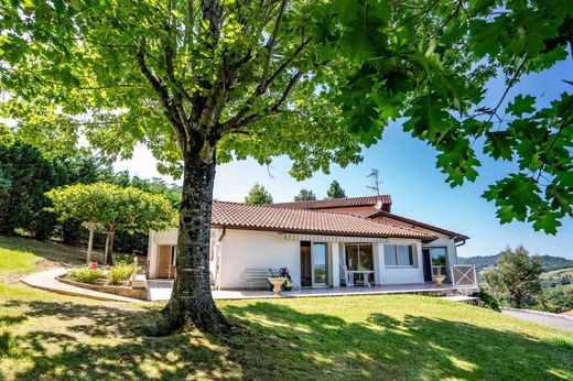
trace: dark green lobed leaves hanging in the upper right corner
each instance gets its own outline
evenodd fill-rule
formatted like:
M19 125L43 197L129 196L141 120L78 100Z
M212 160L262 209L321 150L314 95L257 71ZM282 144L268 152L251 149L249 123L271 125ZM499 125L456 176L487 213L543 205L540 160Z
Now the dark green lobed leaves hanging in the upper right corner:
M555 233L573 216L571 90L544 107L509 97L523 75L571 59L571 1L340 0L323 11L316 42L323 57L355 64L337 101L364 143L402 118L404 131L436 149L452 186L476 179L478 150L518 164L484 194L502 224ZM507 88L491 102L484 96L494 77ZM573 85L571 70L562 79Z

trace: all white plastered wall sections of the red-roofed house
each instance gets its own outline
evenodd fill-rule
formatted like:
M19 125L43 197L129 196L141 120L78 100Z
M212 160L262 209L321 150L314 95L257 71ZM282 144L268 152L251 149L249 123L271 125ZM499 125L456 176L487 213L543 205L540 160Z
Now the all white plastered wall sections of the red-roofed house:
M246 269L288 268L293 281L301 284L300 240L288 235L261 230L213 229L210 238L210 272L220 289L248 289L245 281ZM337 238L339 239L339 238ZM358 238L349 239L359 241ZM149 275L156 276L158 246L176 244L177 229L152 231L149 239ZM385 265L383 244L411 244L415 248L417 266L387 268ZM338 266L344 263L344 243L329 241L328 275L329 284L339 285ZM376 284L415 284L424 283L422 246L445 247L448 264L456 264L454 240L440 235L440 239L422 244L417 239L390 238L388 243L372 242ZM219 269L217 269L220 266Z

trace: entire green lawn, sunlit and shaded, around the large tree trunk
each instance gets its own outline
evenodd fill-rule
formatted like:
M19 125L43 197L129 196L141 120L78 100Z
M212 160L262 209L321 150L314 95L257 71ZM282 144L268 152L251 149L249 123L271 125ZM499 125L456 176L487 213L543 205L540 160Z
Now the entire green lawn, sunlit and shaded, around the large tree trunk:
M573 379L572 334L423 296L220 302L239 334L142 337L160 304L10 281L42 260L24 243L0 239L0 380Z

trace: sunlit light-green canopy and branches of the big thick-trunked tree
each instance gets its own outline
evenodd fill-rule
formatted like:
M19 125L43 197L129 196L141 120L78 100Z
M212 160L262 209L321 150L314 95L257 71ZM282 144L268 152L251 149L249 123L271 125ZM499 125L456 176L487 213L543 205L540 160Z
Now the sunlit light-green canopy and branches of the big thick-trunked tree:
M110 160L145 144L174 175L177 145L196 133L223 139L219 162L286 154L298 178L356 163L328 90L343 66L317 59L313 3L6 2L3 113L23 138L66 152L80 137Z

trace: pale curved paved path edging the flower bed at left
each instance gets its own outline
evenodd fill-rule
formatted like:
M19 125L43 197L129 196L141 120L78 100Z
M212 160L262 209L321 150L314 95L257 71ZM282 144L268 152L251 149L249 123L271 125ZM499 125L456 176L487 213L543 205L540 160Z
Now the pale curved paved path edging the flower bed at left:
M71 284L58 282L55 277L64 275L67 269L58 268L47 271L36 272L31 275L22 277L20 281L28 284L31 287L55 292L64 295L90 297L100 301L113 301L113 302L129 302L129 303L144 303L144 301L126 297L121 295L113 295L108 293L101 293L98 291L76 287Z

